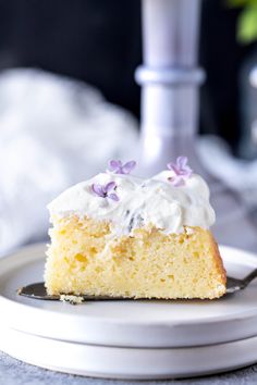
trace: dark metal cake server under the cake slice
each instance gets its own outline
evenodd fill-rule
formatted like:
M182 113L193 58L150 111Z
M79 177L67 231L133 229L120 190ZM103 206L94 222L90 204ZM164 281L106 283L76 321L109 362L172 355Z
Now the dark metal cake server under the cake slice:
M252 281L257 277L257 269L255 269L252 273L246 275L243 280L237 280L228 276L227 277L227 294L233 294L238 290L243 290L245 287L249 285ZM35 298L35 299L45 299L45 300L60 300L60 296L49 296L47 294L46 287L42 282L30 284L24 286L17 290L17 294L21 296ZM123 297L109 297L109 296L79 296L83 300L125 300L131 298Z

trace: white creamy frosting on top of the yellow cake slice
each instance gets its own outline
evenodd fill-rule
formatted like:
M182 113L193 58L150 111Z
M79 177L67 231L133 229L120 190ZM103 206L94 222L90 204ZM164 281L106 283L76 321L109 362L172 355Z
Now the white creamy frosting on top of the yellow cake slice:
M164 233L181 233L184 226L209 228L215 223L215 211L209 203L209 188L205 181L193 174L185 184L174 187L163 171L150 179L131 175L102 173L82 182L54 199L50 214L87 215L111 222L114 234L130 234L134 228L155 225ZM101 198L91 190L93 184L106 185L114 181L119 201Z

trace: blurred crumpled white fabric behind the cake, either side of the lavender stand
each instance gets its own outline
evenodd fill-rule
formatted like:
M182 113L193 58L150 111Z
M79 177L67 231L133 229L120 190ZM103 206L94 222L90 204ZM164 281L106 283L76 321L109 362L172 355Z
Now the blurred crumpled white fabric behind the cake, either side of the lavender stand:
M138 122L93 87L39 70L2 72L0 254L45 240L47 203L105 171L108 160L135 159L137 145ZM207 170L241 195L246 210L257 212L257 160L234 159L212 136L199 137L197 149Z

